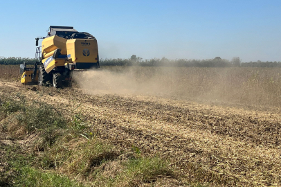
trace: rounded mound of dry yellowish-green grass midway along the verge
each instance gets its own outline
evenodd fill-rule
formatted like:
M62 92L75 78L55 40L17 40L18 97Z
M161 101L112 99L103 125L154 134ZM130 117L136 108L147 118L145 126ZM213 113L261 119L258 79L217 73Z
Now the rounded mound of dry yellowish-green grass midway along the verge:
M66 134L48 152L45 152L40 167L60 169L69 175L79 173L85 176L91 167L114 159L117 155L113 151L112 145L105 141Z

